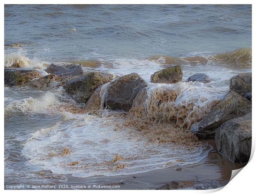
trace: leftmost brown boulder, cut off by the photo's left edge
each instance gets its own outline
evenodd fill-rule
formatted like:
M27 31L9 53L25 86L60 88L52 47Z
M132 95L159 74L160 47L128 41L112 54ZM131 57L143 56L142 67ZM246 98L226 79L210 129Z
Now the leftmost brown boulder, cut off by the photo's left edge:
M24 85L34 78L40 78L41 74L28 68L8 68L5 69L5 84L9 86Z

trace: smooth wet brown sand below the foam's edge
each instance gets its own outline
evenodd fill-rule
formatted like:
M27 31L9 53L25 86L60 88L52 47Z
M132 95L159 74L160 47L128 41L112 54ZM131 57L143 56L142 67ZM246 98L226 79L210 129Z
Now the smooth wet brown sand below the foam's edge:
M194 180L204 182L206 180L219 180L226 185L231 177L232 170L242 168L242 163L232 163L218 154L214 140L208 140L213 146L209 155L199 163L185 166L172 166L147 173L134 175L120 175L114 177L94 176L88 178L72 177L66 175L68 181L65 185L119 185L118 189L156 189L162 185L179 181L187 184L193 189ZM177 168L182 168L180 171ZM104 188L102 188L104 189ZM106 188L105 188L106 189Z

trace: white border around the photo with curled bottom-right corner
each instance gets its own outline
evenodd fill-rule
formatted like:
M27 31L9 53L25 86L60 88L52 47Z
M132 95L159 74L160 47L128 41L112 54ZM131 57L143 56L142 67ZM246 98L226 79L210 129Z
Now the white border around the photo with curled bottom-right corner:
M2 26L2 47L1 47L1 51L2 51L2 57L1 60L2 62L4 61L4 4L252 4L252 21L255 21L254 17L254 4L253 3L255 1L252 0L243 0L243 1L238 1L238 0L208 0L208 1L203 1L203 0L193 0L193 1L189 1L189 0L172 0L172 1L168 1L168 0L157 0L157 1L152 1L152 0L108 0L108 1L103 1L103 0L90 0L90 1L82 1L82 0L72 0L72 1L68 1L68 0L44 0L44 1L40 1L40 0L23 0L23 1L19 1L19 0L3 0L1 2L1 26ZM14 10L14 12L17 10ZM254 32L255 32L255 25L254 22L252 23L252 47L254 47L254 42L255 42L255 36L254 36ZM239 41L239 40L238 40ZM252 48L253 50L253 48ZM254 79L254 52L252 52L252 58L253 58L253 64L252 64L252 72L253 72L253 85L255 85L255 79ZM1 190L4 190L4 90L3 90L3 86L4 86L4 71L3 71L3 65L2 65L2 71L0 71L1 73L1 83L2 83L2 90L1 92L1 107L2 107L2 111L1 111L1 145L2 145L2 149L1 149L1 156L2 156L2 168L1 168L1 177L2 177L2 184L0 185ZM254 88L253 88L254 91ZM254 93L254 92L253 92ZM255 107L255 101L252 101L252 105L253 107ZM252 116L253 118L255 118L255 111L253 108L252 111ZM254 121L252 122L252 128L254 130ZM255 133L253 132L253 138L252 138L252 150L255 150ZM252 157L253 154L251 154ZM226 193L232 193L232 194L236 194L236 193L252 193L255 192L255 168L256 168L256 159L255 157L251 158L251 161L247 164L247 166L245 166L237 176L235 176L229 183L228 185L226 185L223 189L213 189L213 190L205 190L205 191L200 191L200 190L172 190L172 191L168 191L168 190L163 190L161 192L165 192L165 193L186 193L186 194L194 194L194 193L211 193L211 192L216 192L217 190L218 193L220 194L226 194ZM4 192L6 193L12 193L12 192L20 192L20 193L27 193L27 192L35 192L32 190L4 190ZM70 190L37 190L36 192L38 193L45 193L45 192L62 192L62 193L69 193ZM72 190L73 192L73 190ZM77 192L80 193L93 193L93 192L104 192L104 193L116 193L119 192L118 190L78 190ZM123 193L129 193L129 190L123 190ZM156 190L143 190L143 191L138 191L138 190L133 190L133 193L141 193L141 192L147 192L147 193L152 193L152 192L157 192Z

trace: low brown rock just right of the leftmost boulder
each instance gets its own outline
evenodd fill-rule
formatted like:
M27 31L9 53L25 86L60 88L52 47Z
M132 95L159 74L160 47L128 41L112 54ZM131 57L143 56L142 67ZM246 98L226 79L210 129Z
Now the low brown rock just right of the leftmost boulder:
M55 74L49 74L47 76L44 76L42 78L39 78L37 80L31 80L28 85L36 88L47 88L52 83L58 83L59 81L62 81L61 76L57 76Z

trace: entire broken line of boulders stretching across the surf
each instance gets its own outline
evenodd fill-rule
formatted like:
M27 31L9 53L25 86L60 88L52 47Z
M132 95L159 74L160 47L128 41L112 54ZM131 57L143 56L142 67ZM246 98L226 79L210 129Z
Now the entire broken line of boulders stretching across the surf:
M51 64L42 76L35 69L5 69L5 84L30 85L47 88L52 83L62 85L78 103L86 103L93 95L97 106L103 102L111 110L129 111L133 100L147 83L137 73L113 79L109 73L91 71L84 73L81 65L59 66ZM178 83L183 79L180 65L173 65L151 75L153 83ZM186 82L211 82L205 74L195 74ZM102 85L109 83L100 99ZM239 73L230 79L230 92L190 131L201 139L215 138L218 151L231 161L247 162L251 152L251 73ZM90 99L92 104L93 99Z

